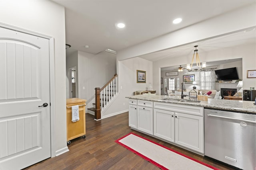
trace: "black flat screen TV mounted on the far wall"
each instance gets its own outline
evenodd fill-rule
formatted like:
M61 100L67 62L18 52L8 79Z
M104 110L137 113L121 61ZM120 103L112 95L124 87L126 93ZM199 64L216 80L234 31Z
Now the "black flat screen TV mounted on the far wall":
M238 80L236 67L215 70L217 80Z

